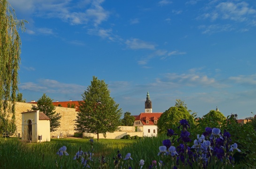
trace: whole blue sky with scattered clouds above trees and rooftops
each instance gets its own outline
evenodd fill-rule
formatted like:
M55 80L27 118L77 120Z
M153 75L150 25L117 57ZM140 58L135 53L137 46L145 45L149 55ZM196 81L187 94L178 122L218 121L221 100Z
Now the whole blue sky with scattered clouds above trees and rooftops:
M216 106L256 112L254 0L9 0L22 54L19 90L28 102L81 100L92 77L119 108L153 112L185 101L202 117ZM251 114L253 112L253 114Z

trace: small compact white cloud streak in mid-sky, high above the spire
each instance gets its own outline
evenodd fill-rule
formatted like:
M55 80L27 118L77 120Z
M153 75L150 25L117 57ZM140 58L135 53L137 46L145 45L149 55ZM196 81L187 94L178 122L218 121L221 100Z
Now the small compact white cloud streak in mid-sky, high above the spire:
M150 50L155 49L154 44L150 44L148 42L144 42L144 41L142 41L140 39L136 39L136 38L126 40L125 44L131 49L150 49Z

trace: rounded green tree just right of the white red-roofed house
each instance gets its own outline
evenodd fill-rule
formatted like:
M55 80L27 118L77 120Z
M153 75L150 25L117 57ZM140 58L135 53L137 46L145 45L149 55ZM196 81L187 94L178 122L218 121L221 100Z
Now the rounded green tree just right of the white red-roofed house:
M166 133L167 129L172 128L175 130L174 125L178 125L179 121L186 119L190 126L194 126L194 115L190 114L191 110L187 110L184 101L176 99L174 107L170 107L164 111L161 117L157 121L157 132Z

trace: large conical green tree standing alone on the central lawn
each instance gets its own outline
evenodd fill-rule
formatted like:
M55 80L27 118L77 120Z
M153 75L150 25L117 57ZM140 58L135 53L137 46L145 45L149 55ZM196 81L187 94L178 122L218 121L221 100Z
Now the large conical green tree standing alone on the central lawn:
M110 97L108 85L104 80L93 76L91 85L82 94L82 98L83 101L79 102L75 130L95 133L99 140L99 133L106 137L106 132L115 132L118 129L122 110Z

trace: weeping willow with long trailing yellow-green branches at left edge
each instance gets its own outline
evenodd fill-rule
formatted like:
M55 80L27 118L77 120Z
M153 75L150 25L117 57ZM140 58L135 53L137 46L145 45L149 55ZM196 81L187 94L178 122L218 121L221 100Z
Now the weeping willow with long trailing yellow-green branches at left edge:
M16 131L15 101L18 90L23 20L17 20L7 0L0 0L0 135Z

